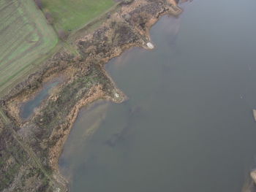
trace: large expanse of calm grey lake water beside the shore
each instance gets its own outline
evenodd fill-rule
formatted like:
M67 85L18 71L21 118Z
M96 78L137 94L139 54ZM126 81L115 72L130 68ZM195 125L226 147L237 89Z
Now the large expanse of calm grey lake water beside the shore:
M238 192L255 168L255 0L197 0L107 65L129 96L82 110L61 155L73 192Z

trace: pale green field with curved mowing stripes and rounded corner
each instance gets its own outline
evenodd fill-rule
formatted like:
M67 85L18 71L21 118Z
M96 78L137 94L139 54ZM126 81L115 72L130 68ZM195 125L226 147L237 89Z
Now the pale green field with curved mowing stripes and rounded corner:
M0 1L0 95L58 42L33 0Z

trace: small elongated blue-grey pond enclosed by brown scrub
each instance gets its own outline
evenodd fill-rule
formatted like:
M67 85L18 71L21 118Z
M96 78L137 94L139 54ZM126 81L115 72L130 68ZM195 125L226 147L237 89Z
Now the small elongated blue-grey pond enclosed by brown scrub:
M42 90L39 91L33 99L22 104L20 107L20 117L23 119L29 118L34 113L34 110L39 107L42 101L48 97L49 91L58 85L58 83L59 81L54 81L45 84Z

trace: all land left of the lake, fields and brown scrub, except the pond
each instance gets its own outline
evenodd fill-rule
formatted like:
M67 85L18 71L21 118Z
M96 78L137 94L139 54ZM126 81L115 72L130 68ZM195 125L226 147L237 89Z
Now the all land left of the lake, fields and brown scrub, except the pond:
M129 47L154 45L149 29L174 0L0 2L0 191L68 191L62 147L81 107L124 93L104 64ZM29 118L20 109L58 81Z

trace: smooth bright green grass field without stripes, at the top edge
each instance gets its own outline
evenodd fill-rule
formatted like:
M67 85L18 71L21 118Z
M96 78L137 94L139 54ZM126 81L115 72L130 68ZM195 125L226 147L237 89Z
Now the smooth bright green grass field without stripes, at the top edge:
M73 31L89 23L115 4L113 0L42 0L57 30Z

